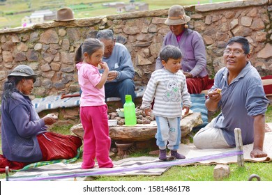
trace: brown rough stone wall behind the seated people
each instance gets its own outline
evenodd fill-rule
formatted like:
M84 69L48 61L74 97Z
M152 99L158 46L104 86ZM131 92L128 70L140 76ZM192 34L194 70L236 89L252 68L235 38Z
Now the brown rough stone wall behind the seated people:
M223 66L222 51L232 36L250 41L252 63L259 74L272 75L272 6L269 0L232 1L186 6L190 29L202 34L206 44L209 76ZM27 64L38 74L33 93L38 96L79 91L75 50L99 29L113 29L116 41L128 47L137 85L147 84L155 68L168 10L47 22L32 27L0 30L0 93L16 65Z

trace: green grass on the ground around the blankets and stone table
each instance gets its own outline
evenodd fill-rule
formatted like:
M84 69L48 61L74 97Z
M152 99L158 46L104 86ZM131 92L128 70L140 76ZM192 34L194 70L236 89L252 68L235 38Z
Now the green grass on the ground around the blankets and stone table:
M266 123L272 123L272 104L266 111ZM71 125L52 125L51 130L60 134L70 134ZM1 141L0 141L1 145ZM129 157L148 156L149 150L134 151ZM116 160L116 158L112 158ZM82 154L77 162L82 162ZM213 181L213 169L215 165L191 165L172 166L161 176L98 176L96 181ZM252 174L260 176L262 181L272 181L272 163L252 163L245 162L244 167L237 164L229 164L230 175L224 181L246 181ZM0 174L0 178L6 178L5 174Z

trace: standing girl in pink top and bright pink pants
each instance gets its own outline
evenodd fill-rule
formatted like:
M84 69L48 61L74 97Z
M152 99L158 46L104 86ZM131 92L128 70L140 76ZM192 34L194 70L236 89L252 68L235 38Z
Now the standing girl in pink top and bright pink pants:
M77 49L75 62L78 81L82 94L80 97L80 119L84 129L82 169L91 169L95 165L112 168L109 158L111 139L107 122L107 104L105 103L104 84L109 68L102 62L104 45L97 39L88 38ZM100 75L100 65L104 72Z

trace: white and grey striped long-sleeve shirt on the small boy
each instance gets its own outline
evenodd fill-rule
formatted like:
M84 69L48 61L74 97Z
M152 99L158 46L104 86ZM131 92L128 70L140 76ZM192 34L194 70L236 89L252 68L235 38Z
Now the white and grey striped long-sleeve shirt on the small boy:
M167 118L181 116L182 104L191 107L190 94L183 72L179 70L172 73L164 68L154 71L146 86L141 108L151 108L154 98L153 115Z

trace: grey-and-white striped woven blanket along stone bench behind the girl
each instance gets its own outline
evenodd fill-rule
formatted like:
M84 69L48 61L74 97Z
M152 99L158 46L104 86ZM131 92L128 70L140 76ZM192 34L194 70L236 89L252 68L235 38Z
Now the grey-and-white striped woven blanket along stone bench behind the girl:
M142 97L144 95L145 89L146 89L146 86L137 87L135 91L136 97L137 98ZM74 95L79 93L80 92L69 93L67 95ZM119 100L121 99L107 98L107 102L119 101ZM45 98L35 98L34 100L32 100L32 104L38 113L40 111L49 110L49 109L78 107L80 106L80 96L61 99L61 95L50 95Z

